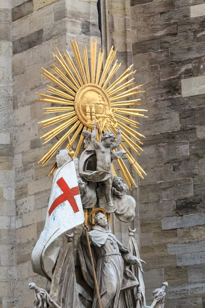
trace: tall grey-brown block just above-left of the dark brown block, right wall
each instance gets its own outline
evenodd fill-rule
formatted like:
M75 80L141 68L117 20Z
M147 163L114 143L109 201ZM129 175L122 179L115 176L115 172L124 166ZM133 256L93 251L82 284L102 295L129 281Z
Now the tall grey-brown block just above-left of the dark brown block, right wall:
M193 196L193 179L159 183L161 200Z

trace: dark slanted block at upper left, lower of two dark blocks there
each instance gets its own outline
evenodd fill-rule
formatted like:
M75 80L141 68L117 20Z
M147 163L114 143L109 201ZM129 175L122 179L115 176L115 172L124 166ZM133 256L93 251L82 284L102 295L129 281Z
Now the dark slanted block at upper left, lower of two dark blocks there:
M43 43L43 30L31 33L25 37L18 38L13 42L13 54L23 52L36 45Z

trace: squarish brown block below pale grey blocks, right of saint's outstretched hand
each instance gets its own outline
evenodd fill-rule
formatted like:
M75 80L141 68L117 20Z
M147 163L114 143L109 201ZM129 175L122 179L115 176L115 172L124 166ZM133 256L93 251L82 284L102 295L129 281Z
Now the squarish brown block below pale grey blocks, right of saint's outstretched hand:
M164 280L169 281L169 286L188 283L186 266L166 267Z

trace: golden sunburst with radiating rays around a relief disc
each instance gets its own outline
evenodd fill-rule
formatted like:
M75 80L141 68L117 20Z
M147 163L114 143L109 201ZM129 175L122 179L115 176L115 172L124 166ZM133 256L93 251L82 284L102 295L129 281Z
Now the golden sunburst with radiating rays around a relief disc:
M90 61L87 46L82 47L82 57L77 40L75 39L74 43L70 41L70 44L75 61L73 61L68 51L63 56L57 49L58 53L52 54L58 66L53 64L51 67L52 72L46 68L43 68L44 72L40 72L45 78L54 83L55 87L48 85L46 89L48 94L37 93L40 95L38 101L57 105L44 107L43 109L46 109L44 113L60 113L55 117L39 122L43 124L42 128L57 124L40 138L45 139L43 143L45 144L59 133L66 132L38 163L42 163L43 167L65 142L68 143L65 148L69 149L80 135L75 149L75 157L77 157L84 140L82 131L85 129L92 131L96 121L98 123L98 141L103 132L106 131L111 131L116 136L117 126L120 127L122 141L124 141L120 143L120 148L127 151L127 159L137 171L137 174L143 178L143 174L146 175L145 171L139 166L126 147L127 145L136 155L139 155L139 150L142 150L140 138L145 138L137 131L139 122L127 116L147 118L143 113L147 110L129 107L139 106L140 99L132 97L144 92L140 90L143 85L136 86L134 78L131 78L135 73L132 70L133 65L126 69L114 82L111 82L121 65L117 63L117 60L114 61L117 50L114 50L113 47L111 48L103 68L104 51L99 49L97 55L97 40L93 42L92 38L90 39ZM128 98L131 98L131 100L127 101L126 99ZM72 136L71 139L69 139L70 136ZM68 139L70 140L69 142ZM131 189L135 182L124 160L118 159L116 162ZM57 165L55 164L50 174L56 167ZM116 176L113 164L112 170L114 176Z

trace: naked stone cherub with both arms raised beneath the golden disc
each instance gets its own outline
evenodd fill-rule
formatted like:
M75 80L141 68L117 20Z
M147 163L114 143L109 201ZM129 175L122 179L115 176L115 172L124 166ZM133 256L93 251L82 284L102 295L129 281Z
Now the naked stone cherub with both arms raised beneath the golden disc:
M96 141L97 133L97 123L94 123L94 130L91 134L91 143L95 147L96 158L97 158L97 170L108 171L110 172L110 177L106 179L105 184L105 197L108 206L113 207L111 200L111 189L112 189L112 180L111 180L111 151L116 149L121 142L121 132L120 128L117 127L117 140L115 142L115 136L112 132L108 131L103 134L103 140L98 143Z

